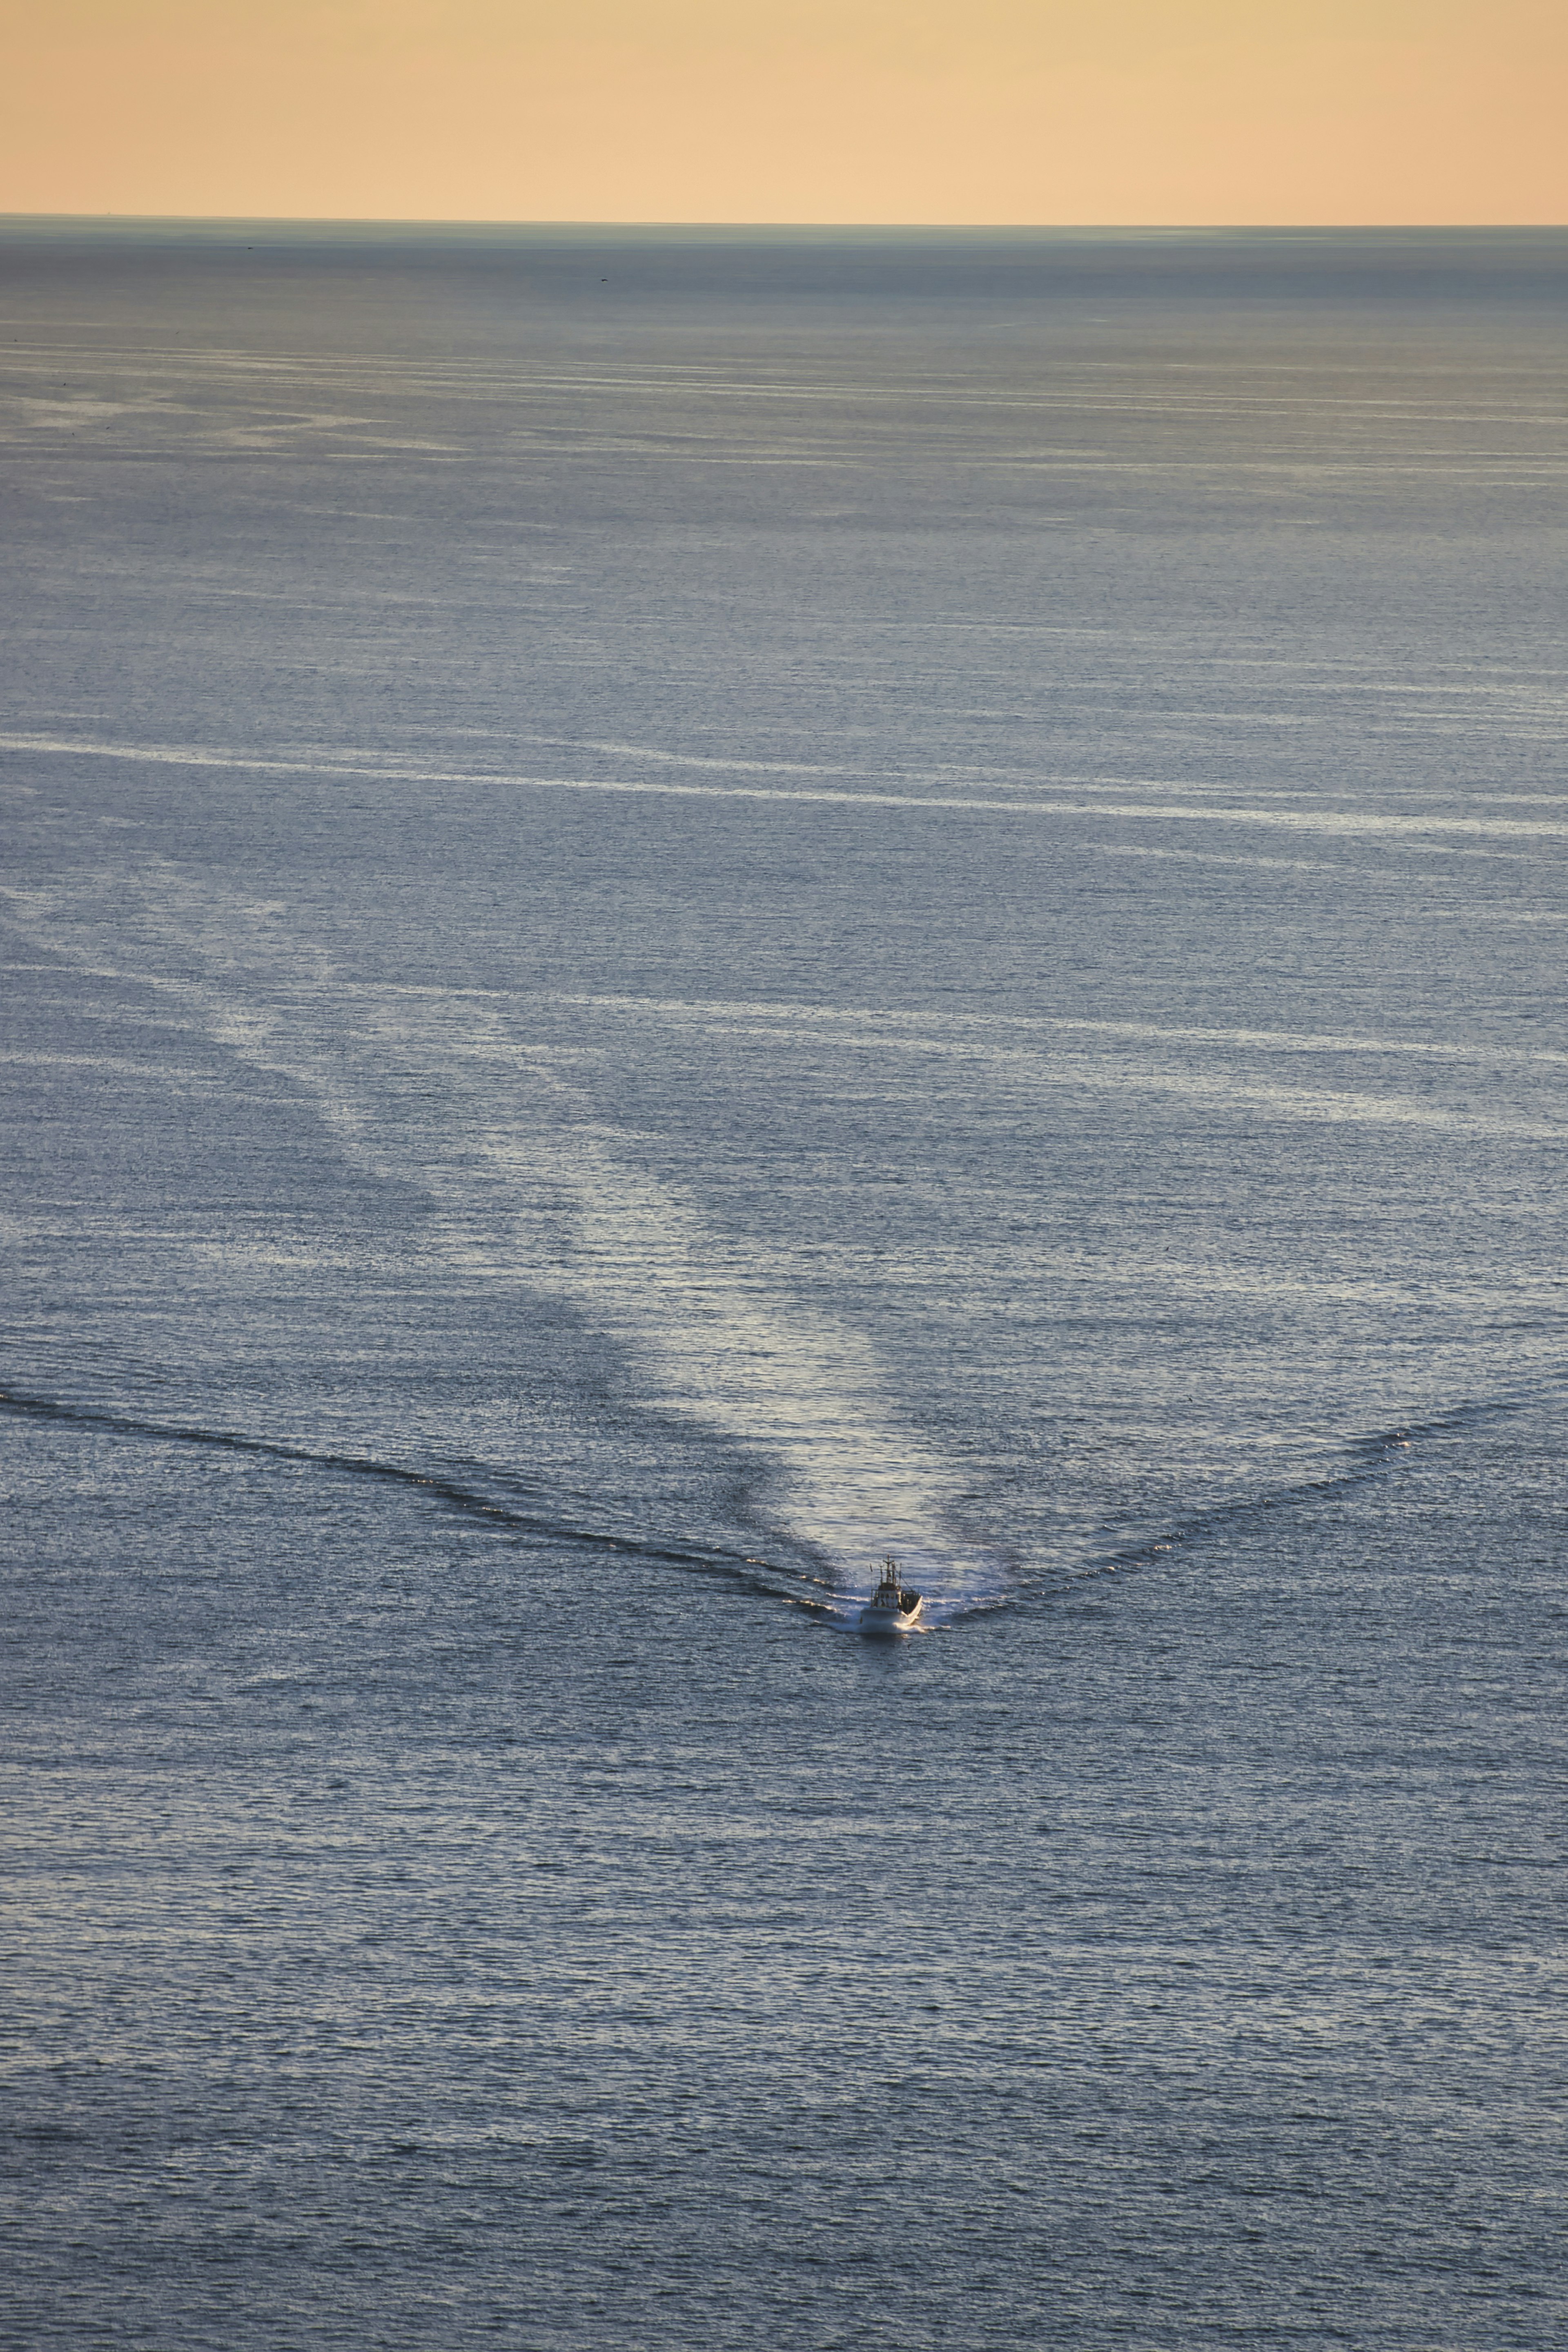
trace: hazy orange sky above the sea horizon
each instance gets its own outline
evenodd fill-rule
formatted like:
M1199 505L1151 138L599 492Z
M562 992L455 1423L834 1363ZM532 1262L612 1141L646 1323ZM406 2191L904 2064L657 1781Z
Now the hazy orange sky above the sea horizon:
M0 0L0 212L1568 221L1568 0Z

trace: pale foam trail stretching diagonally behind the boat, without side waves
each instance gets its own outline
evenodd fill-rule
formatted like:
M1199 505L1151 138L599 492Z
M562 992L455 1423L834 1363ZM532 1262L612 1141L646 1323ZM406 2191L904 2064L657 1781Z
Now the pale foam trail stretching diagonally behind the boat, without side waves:
M92 927L42 903L33 915L87 964ZM588 1115L569 1063L517 1035L520 1000L339 990L273 903L219 901L172 870L148 917L186 971L160 971L155 953L127 976L240 1061L308 1089L346 1157L416 1181L449 1263L559 1296L609 1331L635 1404L733 1439L764 1470L759 1505L846 1595L870 1592L884 1552L933 1616L1004 1590L1001 1557L959 1531L959 1475L903 1416L877 1350L792 1289L788 1258L715 1232L686 1192L637 1167L637 1138ZM273 990L292 971L289 1000L247 997L247 964ZM400 1117L388 1073L418 1112Z

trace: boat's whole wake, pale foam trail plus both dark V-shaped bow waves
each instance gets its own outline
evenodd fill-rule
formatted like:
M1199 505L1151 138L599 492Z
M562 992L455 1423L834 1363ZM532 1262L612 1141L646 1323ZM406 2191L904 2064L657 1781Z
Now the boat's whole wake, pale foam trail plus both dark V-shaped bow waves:
M292 934L277 903L193 884L172 868L143 877L139 927L125 922L120 898L118 943L125 957L125 941L139 938L134 969L101 962L89 889L40 894L19 903L19 920L54 955L153 990L172 1016L165 1028L195 1030L235 1063L284 1075L346 1162L423 1192L421 1251L468 1284L567 1303L616 1348L616 1404L654 1430L665 1421L719 1437L741 1465L748 1505L733 1548L691 1545L559 1512L498 1468L498 1456L468 1465L456 1430L451 1446L440 1435L433 1444L428 1428L402 1444L388 1428L386 1449L376 1432L374 1451L343 1454L195 1418L78 1409L38 1381L0 1399L9 1411L397 1479L520 1538L736 1576L839 1630L858 1630L875 1564L889 1552L926 1595L919 1630L940 1630L1152 1569L1260 1512L1347 1491L1420 1437L1458 1425L1448 1416L1356 1439L1345 1465L1321 1477L1213 1503L1107 1550L1084 1526L1053 1543L1051 1566L1023 1569L973 1534L969 1479L914 1425L867 1334L823 1301L820 1284L806 1284L797 1254L755 1228L724 1230L665 1171L665 1138L595 1112L583 1063L602 1061L614 1049L607 1035L618 1033L548 1025L527 993L346 978L324 948ZM1509 1409L1465 1406L1460 1416Z

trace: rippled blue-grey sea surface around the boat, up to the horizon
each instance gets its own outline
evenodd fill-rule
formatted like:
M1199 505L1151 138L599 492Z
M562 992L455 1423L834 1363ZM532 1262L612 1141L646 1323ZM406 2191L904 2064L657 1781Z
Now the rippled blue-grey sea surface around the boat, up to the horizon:
M0 228L7 2345L1568 2338L1566 299Z

